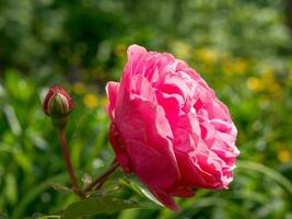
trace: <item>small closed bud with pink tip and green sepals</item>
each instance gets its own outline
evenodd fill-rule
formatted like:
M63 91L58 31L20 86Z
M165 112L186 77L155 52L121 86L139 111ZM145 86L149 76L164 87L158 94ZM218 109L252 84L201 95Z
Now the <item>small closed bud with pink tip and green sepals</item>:
M49 89L44 101L44 112L52 118L62 118L71 113L74 102L60 87L54 85Z

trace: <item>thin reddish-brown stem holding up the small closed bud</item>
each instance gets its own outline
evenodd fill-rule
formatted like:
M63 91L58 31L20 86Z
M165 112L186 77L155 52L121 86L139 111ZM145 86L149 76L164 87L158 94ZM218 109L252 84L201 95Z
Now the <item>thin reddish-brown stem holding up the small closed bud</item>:
M71 184L72 184L72 189L79 197L84 198L85 196L84 196L84 194L82 193L82 191L80 189L80 187L78 185L78 180L77 180L77 176L74 174L73 166L71 164L71 159L70 159L70 155L69 155L68 147L67 147L65 128L59 128L58 129L58 137L59 137L59 141L60 141L62 157L65 159L66 168L67 168L67 171L68 171L69 176L70 176L70 181L71 181Z

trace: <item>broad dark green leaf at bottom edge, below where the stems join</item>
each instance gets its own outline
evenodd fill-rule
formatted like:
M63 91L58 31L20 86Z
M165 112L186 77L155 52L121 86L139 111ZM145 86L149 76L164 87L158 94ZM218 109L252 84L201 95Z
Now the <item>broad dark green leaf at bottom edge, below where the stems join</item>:
M65 219L89 217L97 214L109 214L116 210L138 208L139 205L133 200L122 200L113 196L87 198L71 204L63 212Z

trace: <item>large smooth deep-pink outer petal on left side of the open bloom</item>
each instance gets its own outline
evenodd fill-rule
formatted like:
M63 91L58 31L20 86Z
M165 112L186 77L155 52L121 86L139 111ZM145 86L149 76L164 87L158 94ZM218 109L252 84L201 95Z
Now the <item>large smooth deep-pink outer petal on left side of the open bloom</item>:
M131 169L147 185L168 187L179 178L171 128L161 106L126 97L116 111L116 125Z

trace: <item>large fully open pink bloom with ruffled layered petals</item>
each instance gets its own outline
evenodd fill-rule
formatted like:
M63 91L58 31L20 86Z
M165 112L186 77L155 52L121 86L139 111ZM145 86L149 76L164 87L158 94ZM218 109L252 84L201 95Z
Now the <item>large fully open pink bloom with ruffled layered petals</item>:
M236 127L227 107L186 62L132 45L118 82L106 87L109 140L118 162L166 207L192 188L227 188Z

